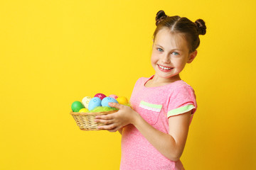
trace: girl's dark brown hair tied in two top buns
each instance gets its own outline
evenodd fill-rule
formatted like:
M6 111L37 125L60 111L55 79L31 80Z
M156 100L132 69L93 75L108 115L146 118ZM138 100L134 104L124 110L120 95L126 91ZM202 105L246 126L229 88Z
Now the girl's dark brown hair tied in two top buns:
M173 33L183 33L188 42L189 52L193 52L200 44L198 35L206 34L206 23L202 19L194 23L186 17L166 16L163 10L156 13L156 30L154 31L153 40L162 28L169 28Z

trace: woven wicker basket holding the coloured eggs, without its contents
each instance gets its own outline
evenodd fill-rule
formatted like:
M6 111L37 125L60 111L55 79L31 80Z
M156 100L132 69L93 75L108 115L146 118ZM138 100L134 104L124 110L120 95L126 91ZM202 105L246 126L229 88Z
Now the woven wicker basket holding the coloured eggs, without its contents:
M103 124L97 123L94 121L96 115L107 115L110 113L115 113L117 111L106 111L106 112L97 112L97 113L70 112L70 114L75 119L75 122L77 123L80 130L97 130L97 126L103 125Z

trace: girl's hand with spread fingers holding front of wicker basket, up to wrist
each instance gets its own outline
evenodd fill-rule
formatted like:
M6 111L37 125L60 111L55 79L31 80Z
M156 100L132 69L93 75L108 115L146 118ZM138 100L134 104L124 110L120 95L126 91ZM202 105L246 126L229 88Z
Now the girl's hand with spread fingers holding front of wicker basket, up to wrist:
M109 103L109 105L113 108L119 108L119 111L108 115L97 115L95 117L95 122L105 124L98 126L97 129L116 132L119 128L134 123L137 112L132 110L132 108L119 103Z

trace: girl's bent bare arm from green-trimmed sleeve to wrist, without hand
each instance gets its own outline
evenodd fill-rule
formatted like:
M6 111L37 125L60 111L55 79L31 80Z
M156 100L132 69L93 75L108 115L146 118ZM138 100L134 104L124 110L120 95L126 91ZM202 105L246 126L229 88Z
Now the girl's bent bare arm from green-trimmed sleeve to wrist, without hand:
M139 114L133 124L161 154L178 161L186 144L190 117L191 111L170 117L169 134L156 130Z

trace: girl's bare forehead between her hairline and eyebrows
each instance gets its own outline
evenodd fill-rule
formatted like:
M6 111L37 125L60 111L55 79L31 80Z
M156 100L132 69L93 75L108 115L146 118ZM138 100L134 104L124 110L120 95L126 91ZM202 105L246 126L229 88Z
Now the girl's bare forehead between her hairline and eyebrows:
M166 48L178 48L188 50L186 37L183 33L171 32L169 28L159 30L155 43Z

